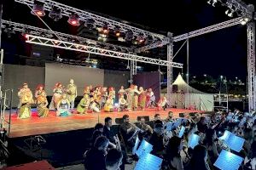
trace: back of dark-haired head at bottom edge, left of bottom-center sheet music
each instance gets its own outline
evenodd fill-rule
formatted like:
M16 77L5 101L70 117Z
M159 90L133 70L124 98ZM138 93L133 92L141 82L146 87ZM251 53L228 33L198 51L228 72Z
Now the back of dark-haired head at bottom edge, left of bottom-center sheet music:
M116 149L108 150L106 156L106 169L117 170L122 163L123 155L122 152Z

